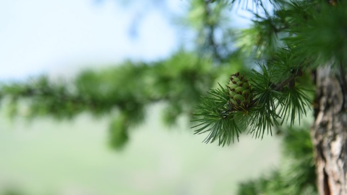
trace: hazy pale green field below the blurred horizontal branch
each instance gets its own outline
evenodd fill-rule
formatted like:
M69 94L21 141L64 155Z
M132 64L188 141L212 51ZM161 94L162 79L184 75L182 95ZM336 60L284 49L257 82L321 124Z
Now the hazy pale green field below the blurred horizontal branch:
M147 111L122 151L107 145L109 118L0 119L0 189L25 194L234 194L237 184L279 164L280 139L241 137L230 147L204 144L189 122L167 128L161 104Z

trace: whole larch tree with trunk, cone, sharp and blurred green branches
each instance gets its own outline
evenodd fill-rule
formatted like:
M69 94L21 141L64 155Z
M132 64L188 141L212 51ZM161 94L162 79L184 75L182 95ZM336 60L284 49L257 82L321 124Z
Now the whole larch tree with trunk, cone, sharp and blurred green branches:
M111 114L115 148L158 101L166 102L167 124L186 114L195 133L208 134L206 143L282 132L284 152L297 162L242 183L239 194L347 194L346 6L337 0L191 0L184 23L195 34L194 49L84 71L67 83L45 76L4 83L0 98L12 115L24 110L29 118ZM251 7L251 27L232 27L231 11ZM308 133L295 126L310 109L315 121Z

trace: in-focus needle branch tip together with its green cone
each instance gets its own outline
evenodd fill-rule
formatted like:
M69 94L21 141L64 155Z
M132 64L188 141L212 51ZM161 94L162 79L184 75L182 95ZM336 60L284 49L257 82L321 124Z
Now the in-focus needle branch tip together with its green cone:
M238 72L232 74L227 88L221 85L219 89L211 90L211 96L202 98L198 112L194 114L200 119L195 122L200 123L196 133L210 132L205 142L213 142L217 138L221 140L230 139L223 136L236 135L249 129L248 133L255 138L263 138L265 132L272 135L272 128L283 125L288 121L294 124L296 115L300 118L306 114L306 106L310 105L309 97L303 89L295 86L295 78L302 75L301 67L291 70L290 76L280 84L274 85L272 74L269 69L259 64L262 72L253 70L252 83L248 84L247 79ZM244 86L242 82L247 82ZM248 88L248 86L252 86ZM288 87L285 87L288 86ZM248 94L249 93L249 94ZM242 94L242 95L241 95ZM252 97L245 101L246 98ZM237 118L237 115L242 115ZM279 121L282 121L281 123ZM223 125L222 125L223 124ZM234 132L230 135L220 133L220 131ZM238 136L238 134L237 134ZM219 142L224 145L228 142Z

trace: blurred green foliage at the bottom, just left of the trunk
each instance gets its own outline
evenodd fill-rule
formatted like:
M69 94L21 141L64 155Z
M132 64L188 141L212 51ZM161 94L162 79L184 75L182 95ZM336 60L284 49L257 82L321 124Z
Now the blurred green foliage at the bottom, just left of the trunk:
M242 182L237 194L317 194L315 162L308 125L280 130L281 166L263 177Z

